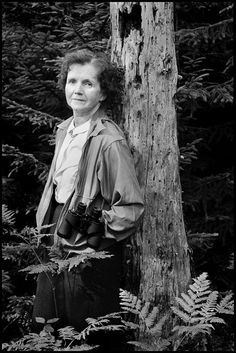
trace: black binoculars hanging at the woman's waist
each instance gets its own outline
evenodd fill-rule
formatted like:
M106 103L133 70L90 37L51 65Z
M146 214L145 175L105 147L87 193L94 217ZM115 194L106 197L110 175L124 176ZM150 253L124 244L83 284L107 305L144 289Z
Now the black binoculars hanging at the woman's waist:
M86 204L79 202L75 209L69 210L57 230L59 237L70 239L73 230L88 236L87 244L96 249L104 235L104 224L99 220L102 210L97 207L86 213Z

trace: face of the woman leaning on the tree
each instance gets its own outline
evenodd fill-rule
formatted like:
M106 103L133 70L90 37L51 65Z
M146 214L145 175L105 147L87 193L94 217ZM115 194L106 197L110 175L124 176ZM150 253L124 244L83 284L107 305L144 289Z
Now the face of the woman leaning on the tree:
M72 64L65 86L67 104L74 115L85 116L105 99L98 81L98 68L91 63Z

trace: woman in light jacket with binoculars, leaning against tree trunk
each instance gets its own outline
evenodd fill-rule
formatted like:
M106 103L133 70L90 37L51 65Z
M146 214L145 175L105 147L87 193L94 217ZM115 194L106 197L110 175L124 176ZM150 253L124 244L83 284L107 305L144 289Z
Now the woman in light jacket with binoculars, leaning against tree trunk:
M40 274L33 310L38 329L37 317L58 317L56 328L81 331L86 318L119 310L121 244L137 228L143 197L124 134L105 112L117 99L115 75L105 55L87 49L68 53L62 63L59 83L73 116L58 125L37 226L55 223L50 245L60 244L69 257L99 250L114 256L50 281Z

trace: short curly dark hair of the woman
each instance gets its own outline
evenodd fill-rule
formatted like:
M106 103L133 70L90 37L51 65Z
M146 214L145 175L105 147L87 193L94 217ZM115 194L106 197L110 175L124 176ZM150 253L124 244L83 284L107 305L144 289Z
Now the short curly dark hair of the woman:
M106 99L101 102L103 108L115 121L121 119L121 106L124 93L124 71L111 63L108 56L102 52L90 49L74 49L65 54L58 78L59 87L64 90L69 68L73 64L92 63L99 69L98 81ZM119 115L119 116L118 116Z

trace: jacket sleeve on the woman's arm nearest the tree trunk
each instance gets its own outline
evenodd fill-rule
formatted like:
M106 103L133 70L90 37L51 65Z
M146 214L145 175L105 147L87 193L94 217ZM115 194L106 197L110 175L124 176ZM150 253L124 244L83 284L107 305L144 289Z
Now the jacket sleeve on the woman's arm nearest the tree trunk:
M106 237L117 241L133 234L144 211L134 161L125 140L112 142L103 152L98 172L101 194L110 205L103 210Z

